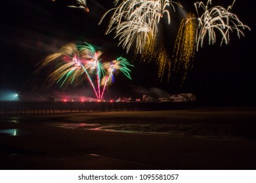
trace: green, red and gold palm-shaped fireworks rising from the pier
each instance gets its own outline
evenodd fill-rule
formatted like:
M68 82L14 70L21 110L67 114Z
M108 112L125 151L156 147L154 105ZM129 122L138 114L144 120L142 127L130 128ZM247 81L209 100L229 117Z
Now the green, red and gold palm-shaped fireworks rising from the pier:
M102 52L96 52L87 42L85 44L85 46L67 44L59 52L45 58L36 72L53 63L56 65L52 67L54 70L47 77L49 83L47 87L55 83L59 83L60 87L78 86L84 80L88 80L97 99L102 99L106 86L114 82L114 74L120 71L131 79L131 70L127 66L133 67L133 65L127 59L120 57L111 62L101 63Z

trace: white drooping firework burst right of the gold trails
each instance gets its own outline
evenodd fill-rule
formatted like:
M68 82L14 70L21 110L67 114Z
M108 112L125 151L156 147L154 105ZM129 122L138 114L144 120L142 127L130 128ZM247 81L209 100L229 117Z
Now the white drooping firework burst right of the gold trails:
M196 12L198 14L198 30L196 33L196 50L199 46L203 46L203 41L206 36L209 37L209 44L215 44L216 31L219 31L222 36L221 45L223 42L228 44L230 32L236 31L238 37L244 36L242 30L250 28L244 25L238 16L230 12L236 0L233 1L227 9L221 6L210 8L211 0L208 0L206 5L203 2L196 2ZM200 15L199 9L202 8L203 12Z

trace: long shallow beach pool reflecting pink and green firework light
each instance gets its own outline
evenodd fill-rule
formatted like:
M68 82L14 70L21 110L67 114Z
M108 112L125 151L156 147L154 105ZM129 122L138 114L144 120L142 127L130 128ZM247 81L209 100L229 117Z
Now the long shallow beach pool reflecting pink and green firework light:
M151 135L171 135L180 137L205 137L210 139L248 139L236 137L221 131L213 131L200 125L178 124L86 124L86 123L54 123L52 127L67 129L86 129L93 131L118 131L123 133L140 133Z

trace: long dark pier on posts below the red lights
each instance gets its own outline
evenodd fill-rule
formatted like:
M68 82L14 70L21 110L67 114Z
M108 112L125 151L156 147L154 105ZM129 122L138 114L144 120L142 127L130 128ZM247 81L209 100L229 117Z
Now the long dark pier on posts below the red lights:
M58 114L67 112L143 111L190 108L194 103L1 101L0 114Z

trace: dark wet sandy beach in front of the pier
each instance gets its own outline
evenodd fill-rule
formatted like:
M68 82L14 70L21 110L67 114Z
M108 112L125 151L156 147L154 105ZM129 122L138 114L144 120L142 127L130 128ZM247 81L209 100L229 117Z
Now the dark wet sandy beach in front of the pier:
M0 116L1 169L256 169L256 108Z

